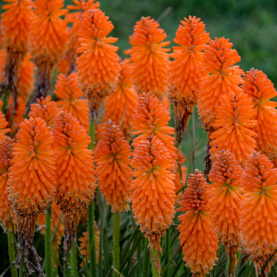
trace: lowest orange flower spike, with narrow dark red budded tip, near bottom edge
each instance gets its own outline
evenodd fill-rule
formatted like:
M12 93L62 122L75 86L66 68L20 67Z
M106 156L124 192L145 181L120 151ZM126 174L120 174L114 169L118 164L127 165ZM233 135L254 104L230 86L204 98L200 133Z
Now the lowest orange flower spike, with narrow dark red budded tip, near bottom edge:
M185 211L178 216L181 223L180 244L183 248L183 260L190 268L193 276L204 277L213 268L218 248L218 239L212 230L207 202L208 183L199 170L190 174L187 188L180 201L179 211Z

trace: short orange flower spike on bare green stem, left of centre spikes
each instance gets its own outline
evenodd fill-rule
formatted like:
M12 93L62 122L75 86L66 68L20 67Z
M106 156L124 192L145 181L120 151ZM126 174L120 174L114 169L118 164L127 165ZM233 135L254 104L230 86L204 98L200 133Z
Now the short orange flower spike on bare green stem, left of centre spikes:
M96 172L100 191L115 213L129 210L131 156L131 147L119 126L110 120L104 123L95 149Z

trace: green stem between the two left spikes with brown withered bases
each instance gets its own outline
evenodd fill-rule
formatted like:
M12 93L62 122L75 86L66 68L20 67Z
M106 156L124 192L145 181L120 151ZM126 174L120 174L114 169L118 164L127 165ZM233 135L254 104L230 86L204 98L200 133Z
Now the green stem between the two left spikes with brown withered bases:
M45 273L47 277L51 277L51 208L48 207L45 214L45 236L44 236L44 257L45 257Z

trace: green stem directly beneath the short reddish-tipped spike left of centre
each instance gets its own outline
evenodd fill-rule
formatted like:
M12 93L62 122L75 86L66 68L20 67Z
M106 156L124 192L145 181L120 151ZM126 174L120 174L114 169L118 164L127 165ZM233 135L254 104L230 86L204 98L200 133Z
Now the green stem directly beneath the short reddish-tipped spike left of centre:
M114 213L114 233L113 233L113 254L114 267L119 271L119 236L120 235L120 213ZM113 276L118 277L116 271L113 271Z

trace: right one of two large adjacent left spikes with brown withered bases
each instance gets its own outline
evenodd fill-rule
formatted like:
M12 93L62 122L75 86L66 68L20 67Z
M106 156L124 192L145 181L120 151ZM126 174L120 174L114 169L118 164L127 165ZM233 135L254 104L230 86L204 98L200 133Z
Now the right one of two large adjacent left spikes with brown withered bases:
M86 129L68 112L59 112L52 129L57 150L59 184L56 200L64 214L64 258L71 250L79 220L96 188L91 142Z

